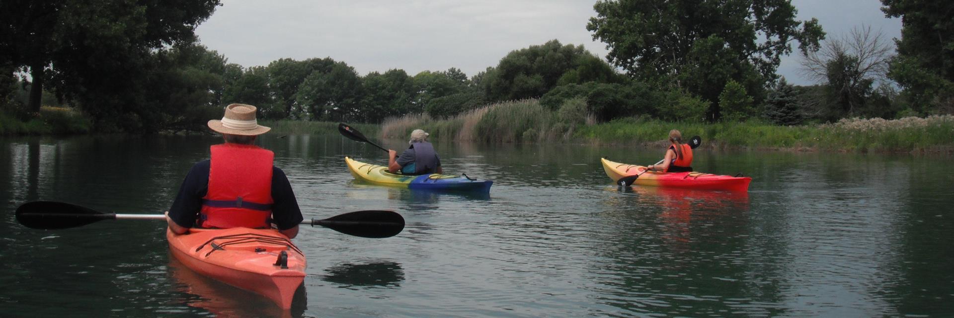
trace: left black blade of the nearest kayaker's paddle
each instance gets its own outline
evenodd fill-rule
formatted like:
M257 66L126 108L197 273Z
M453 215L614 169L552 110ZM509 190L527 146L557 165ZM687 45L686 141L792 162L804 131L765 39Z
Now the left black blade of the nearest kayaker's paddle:
M67 202L31 201L16 208L16 222L30 228L61 229L83 226L103 220L114 220L113 213L103 213Z

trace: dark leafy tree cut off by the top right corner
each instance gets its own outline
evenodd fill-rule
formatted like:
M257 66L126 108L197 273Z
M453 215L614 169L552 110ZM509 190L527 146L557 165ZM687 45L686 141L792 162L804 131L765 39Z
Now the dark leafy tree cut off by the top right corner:
M915 111L954 113L954 2L881 0L887 17L902 18L898 56L889 76Z

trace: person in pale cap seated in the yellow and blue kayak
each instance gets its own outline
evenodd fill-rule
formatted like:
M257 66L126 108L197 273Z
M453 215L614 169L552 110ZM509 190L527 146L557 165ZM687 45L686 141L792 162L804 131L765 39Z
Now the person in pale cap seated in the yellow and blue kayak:
M427 136L430 134L421 129L411 132L411 139L407 141L410 147L404 149L401 157L398 157L397 151L387 150L387 171L400 171L404 175L443 174L441 158L437 157L434 145L427 142Z

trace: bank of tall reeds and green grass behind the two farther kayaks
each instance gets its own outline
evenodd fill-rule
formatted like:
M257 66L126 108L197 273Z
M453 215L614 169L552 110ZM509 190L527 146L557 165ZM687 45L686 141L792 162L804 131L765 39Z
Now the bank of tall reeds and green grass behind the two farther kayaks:
M665 122L622 118L594 124L574 109L551 112L536 100L489 105L446 119L405 116L384 121L387 138L405 138L422 128L432 138L489 142L592 142L667 144L671 129L698 135L704 147L846 152L954 152L954 116L850 118L814 126L745 123Z

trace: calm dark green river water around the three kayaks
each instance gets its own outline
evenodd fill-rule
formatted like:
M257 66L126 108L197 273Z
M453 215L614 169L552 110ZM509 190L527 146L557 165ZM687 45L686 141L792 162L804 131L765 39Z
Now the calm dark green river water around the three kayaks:
M161 213L216 137L0 138L0 316L633 317L954 316L954 159L696 151L699 171L753 177L747 194L619 190L600 157L656 149L436 147L489 196L356 184L341 136L265 136L305 218L390 209L387 239L301 229L308 276L292 310L172 260L164 223L43 231L25 201ZM384 140L402 149L404 140Z

